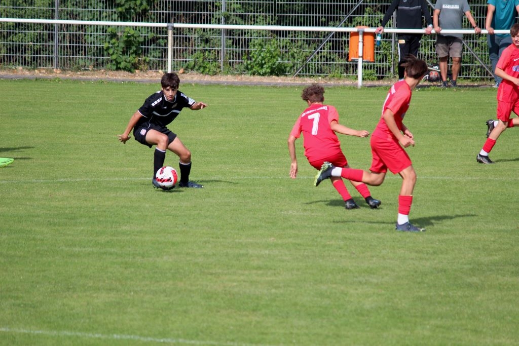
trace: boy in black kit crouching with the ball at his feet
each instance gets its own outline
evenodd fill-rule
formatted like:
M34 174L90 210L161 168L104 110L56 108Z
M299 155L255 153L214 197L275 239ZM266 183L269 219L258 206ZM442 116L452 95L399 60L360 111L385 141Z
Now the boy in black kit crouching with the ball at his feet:
M182 108L193 110L207 107L203 102L195 102L179 91L180 78L176 73L166 73L160 80L162 90L149 96L144 104L133 114L128 122L126 130L118 134L119 141L123 144L130 139L130 131L133 129L135 140L148 147L155 147L153 160L152 183L156 188L168 190L157 184L155 173L164 165L166 149L179 156L180 182L179 187L203 187L200 184L189 181L191 171L191 152L184 146L179 137L166 126L173 121Z

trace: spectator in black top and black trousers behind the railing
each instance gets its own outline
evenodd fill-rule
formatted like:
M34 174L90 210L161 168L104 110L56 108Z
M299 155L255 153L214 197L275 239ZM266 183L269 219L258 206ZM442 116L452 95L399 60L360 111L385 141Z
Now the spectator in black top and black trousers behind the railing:
M397 10L397 29L424 29L422 27L422 13L427 22L425 33L430 35L432 32L432 17L429 8L427 7L426 0L393 0L389 6L382 22L375 33L384 32L384 26L388 23L389 19L393 15L393 12ZM398 33L398 55L400 61L398 63L398 79L404 79L405 57L407 54L413 54L415 57L418 55L418 49L420 49L420 39L422 34L405 34Z

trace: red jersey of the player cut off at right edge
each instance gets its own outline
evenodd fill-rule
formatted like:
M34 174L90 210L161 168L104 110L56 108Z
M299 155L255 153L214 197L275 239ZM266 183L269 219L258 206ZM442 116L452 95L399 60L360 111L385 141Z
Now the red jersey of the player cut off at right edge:
M496 67L501 68L509 76L519 78L519 48L511 44L503 50ZM511 81L503 79L497 89L497 100L515 102L517 98L519 98L519 88Z

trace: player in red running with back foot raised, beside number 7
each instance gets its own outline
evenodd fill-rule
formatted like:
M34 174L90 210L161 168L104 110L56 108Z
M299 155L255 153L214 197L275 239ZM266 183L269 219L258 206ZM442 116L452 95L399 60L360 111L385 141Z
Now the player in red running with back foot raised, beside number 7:
M325 162L316 176L315 185L323 179L342 176L356 182L378 186L384 182L387 170L402 177L402 188L398 196L398 219L395 228L398 231L421 232L419 228L409 223L409 211L413 203L413 189L416 183L416 172L404 148L414 146L414 136L404 125L403 119L409 103L412 90L427 73L427 63L414 56L407 56L404 80L395 83L388 92L382 108L380 121L371 135L371 153L373 160L370 171L339 168L330 162Z

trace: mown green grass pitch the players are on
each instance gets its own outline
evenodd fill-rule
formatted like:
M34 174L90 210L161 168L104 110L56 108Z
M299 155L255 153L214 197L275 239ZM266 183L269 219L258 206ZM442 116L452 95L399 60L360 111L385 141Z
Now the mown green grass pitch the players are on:
M153 189L153 150L116 135L158 89L0 80L0 345L519 343L518 130L475 161L495 89L413 94L419 234L394 230L399 176L347 211L299 140L289 178L301 87L181 85L209 105L170 126L204 188ZM386 92L325 98L372 131ZM368 139L340 140L370 166Z

